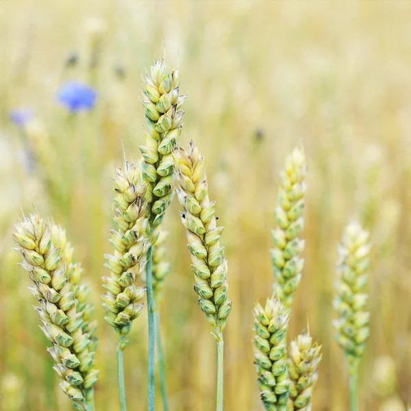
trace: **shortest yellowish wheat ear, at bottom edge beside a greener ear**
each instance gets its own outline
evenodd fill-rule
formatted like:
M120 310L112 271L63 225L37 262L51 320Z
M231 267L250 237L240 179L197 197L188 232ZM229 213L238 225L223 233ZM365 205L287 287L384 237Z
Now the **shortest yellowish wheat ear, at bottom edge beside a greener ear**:
M321 358L321 346L312 343L310 333L300 334L291 342L287 360L290 378L287 411L312 408L312 391L319 377Z

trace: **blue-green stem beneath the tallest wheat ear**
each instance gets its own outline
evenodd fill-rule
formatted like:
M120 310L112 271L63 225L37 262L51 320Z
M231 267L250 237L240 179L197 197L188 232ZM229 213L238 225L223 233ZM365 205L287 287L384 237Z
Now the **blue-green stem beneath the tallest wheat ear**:
M149 319L149 411L155 411L155 329L154 329L154 300L153 277L151 264L153 246L147 252L146 282L147 282L147 310Z

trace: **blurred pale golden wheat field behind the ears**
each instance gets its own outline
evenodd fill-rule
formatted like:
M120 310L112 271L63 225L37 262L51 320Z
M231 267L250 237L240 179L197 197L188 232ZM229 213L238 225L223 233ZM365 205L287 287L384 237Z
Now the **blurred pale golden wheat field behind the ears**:
M166 54L185 103L182 145L206 157L229 264L225 410L262 410L253 369L253 303L271 293L270 229L279 170L292 147L308 158L301 285L289 337L307 326L323 345L314 410L347 410L347 366L334 341L337 245L350 219L373 242L371 338L360 410L411 402L411 2L4 0L0 4L0 409L71 410L38 329L29 280L12 251L13 223L33 205L66 227L99 319L97 410L118 410L115 341L99 295L112 227L114 165L140 158L141 73ZM77 56L73 58L73 56ZM68 63L68 59L71 61ZM77 63L74 60L78 60ZM74 63L75 64L74 64ZM69 114L55 101L67 79L94 86L97 107ZM29 162L14 108L34 109L64 201ZM162 301L171 410L214 407L216 349L195 308L190 257L174 201ZM129 408L147 407L147 318L125 351ZM158 395L160 408L160 394Z

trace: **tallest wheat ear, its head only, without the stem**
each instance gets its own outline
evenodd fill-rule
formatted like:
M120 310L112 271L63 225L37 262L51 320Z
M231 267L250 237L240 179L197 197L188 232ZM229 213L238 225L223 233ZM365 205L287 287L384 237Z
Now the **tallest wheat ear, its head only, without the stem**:
M173 199L173 148L181 134L182 105L185 95L179 95L179 71L171 71L164 60L155 61L151 75L143 77L147 132L142 153L142 176L147 183L147 217L151 229L160 225L166 208Z

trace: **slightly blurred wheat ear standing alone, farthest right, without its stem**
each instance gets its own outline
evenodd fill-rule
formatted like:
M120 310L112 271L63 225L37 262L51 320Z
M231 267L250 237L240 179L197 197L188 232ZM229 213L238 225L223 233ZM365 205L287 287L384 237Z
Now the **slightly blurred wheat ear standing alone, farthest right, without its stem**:
M343 243L338 249L336 298L334 309L338 319L334 321L336 340L349 360L351 375L356 375L358 364L369 337L369 312L364 311L368 295L364 287L368 281L371 244L369 233L359 223L347 225Z

